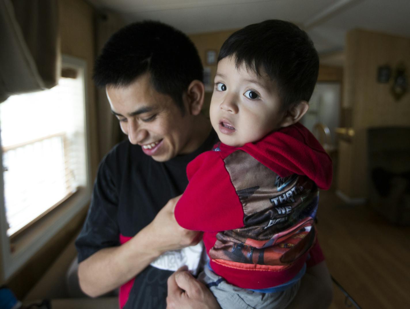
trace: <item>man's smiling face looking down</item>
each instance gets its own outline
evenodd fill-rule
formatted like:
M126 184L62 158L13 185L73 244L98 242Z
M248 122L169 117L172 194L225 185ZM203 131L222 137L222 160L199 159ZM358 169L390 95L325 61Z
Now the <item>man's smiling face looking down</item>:
M140 145L155 161L168 161L191 149L189 113L181 109L169 95L153 88L150 75L141 75L128 86L107 86L107 98L121 130L130 143ZM187 109L187 102L184 101Z

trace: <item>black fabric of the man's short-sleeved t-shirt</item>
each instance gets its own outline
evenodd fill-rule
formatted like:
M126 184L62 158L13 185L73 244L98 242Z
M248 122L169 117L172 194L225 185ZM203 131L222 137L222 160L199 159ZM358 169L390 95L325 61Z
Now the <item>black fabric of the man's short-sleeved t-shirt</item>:
M148 225L171 198L184 192L189 161L216 142L212 130L196 151L166 162L154 161L129 141L116 145L98 168L87 219L75 242L78 261L102 248L120 245L120 234L132 237ZM171 273L145 268L135 278L123 308L166 308L166 280Z

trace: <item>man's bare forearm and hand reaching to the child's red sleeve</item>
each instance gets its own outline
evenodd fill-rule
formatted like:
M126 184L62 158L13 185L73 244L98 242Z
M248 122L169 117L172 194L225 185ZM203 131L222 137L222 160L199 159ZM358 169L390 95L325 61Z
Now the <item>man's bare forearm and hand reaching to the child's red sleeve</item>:
M104 248L78 266L81 289L96 297L112 291L138 275L153 260L169 250L197 244L202 233L178 225L174 208L180 196L169 200L153 222L121 246Z

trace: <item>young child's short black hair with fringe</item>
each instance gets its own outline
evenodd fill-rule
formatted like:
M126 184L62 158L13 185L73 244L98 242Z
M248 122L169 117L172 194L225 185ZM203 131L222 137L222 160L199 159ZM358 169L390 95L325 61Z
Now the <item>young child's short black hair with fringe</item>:
M283 20L265 20L231 34L218 61L235 57L237 67L261 74L275 83L284 109L309 101L319 72L319 56L306 32Z

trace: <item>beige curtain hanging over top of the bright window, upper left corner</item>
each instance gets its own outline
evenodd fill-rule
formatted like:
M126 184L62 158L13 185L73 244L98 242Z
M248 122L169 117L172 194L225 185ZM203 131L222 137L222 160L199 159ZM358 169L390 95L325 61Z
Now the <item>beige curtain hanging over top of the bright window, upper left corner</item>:
M59 49L57 0L0 0L0 102L55 86Z

